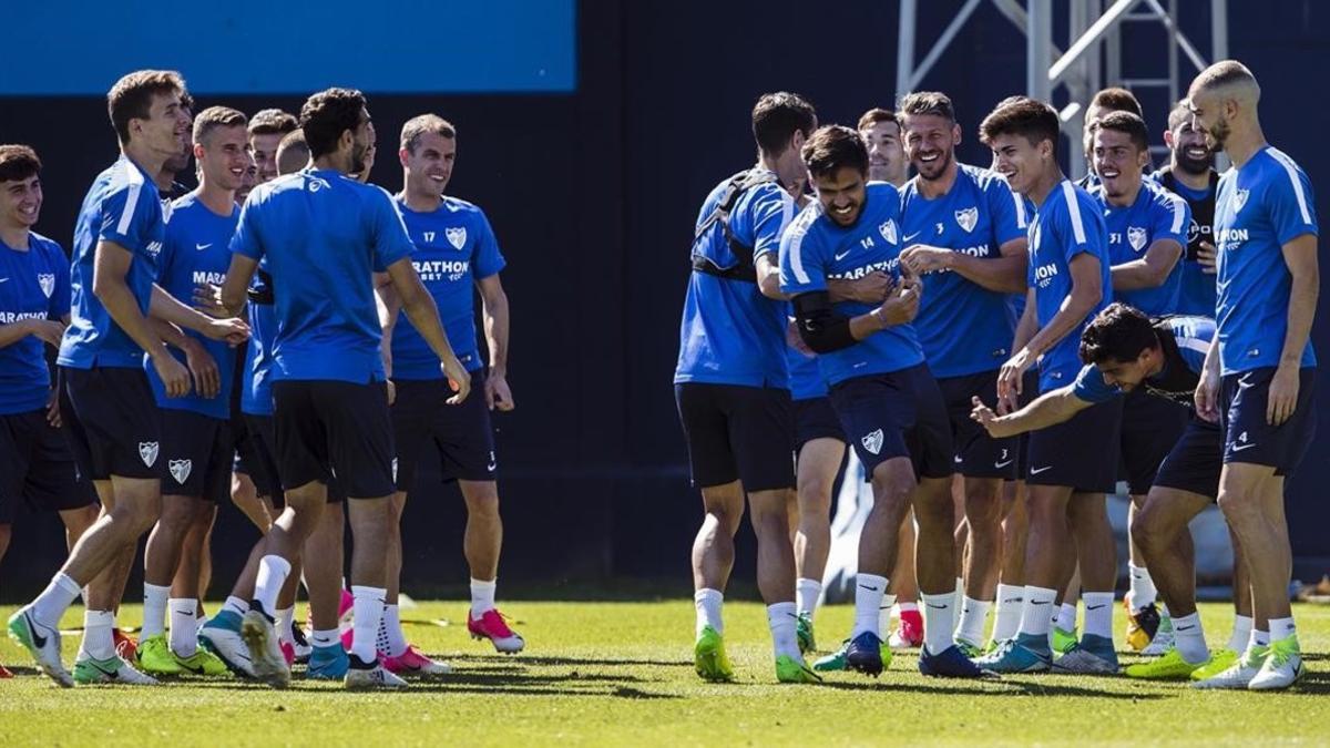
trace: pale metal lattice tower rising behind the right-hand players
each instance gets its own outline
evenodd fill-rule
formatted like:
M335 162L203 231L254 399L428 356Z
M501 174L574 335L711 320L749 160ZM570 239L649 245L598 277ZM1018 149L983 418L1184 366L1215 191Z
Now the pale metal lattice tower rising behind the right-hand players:
M1210 61L1228 57L1228 0L1210 0L1209 61L1178 28L1178 0L1060 0L1068 7L1068 33L1071 44L1065 51L1053 44L1053 0L966 0L928 53L916 60L915 41L919 0L900 0L900 24L896 45L896 92L914 91L947 51L956 35L983 3L992 3L998 11L1025 35L1025 93L1041 101L1052 101L1053 92L1065 87L1069 104L1061 108L1063 134L1073 148L1071 172L1073 178L1085 173L1085 158L1079 144L1084 129L1085 105L1096 91L1105 85L1120 85L1132 92L1166 89L1169 101L1177 101L1181 59L1185 57L1196 72ZM1201 0L1189 0L1200 4ZM1123 75L1121 28L1127 23L1161 24L1169 39L1168 69L1157 76L1133 77ZM1156 146L1152 150L1158 150Z

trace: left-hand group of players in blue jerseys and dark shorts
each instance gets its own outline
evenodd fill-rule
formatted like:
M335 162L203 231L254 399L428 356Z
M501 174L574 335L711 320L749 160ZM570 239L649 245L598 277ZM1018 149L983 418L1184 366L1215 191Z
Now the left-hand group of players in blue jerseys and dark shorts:
M350 688L447 672L407 642L398 608L400 520L435 450L468 510L467 628L521 651L495 606L489 411L513 409L505 261L484 212L446 194L456 129L435 114L406 122L390 196L366 184L375 129L360 92L315 93L298 118L193 108L170 71L110 89L120 158L84 198L72 261L32 230L37 153L0 145L0 554L21 503L59 511L70 543L9 635L64 687L229 671L283 687L295 660ZM190 161L193 190L176 182ZM205 618L209 535L229 495L261 538ZM145 534L133 642L116 611ZM301 582L307 638L293 620ZM80 595L70 673L60 620Z

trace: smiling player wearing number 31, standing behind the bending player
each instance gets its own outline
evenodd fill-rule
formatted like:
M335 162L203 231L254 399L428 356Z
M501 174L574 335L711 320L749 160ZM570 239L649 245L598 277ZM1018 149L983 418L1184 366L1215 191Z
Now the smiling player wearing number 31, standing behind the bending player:
M1190 225L1186 201L1144 178L1149 162L1149 132L1130 112L1109 112L1091 128L1099 200L1108 229L1113 264L1113 297L1150 317L1178 309L1182 285L1184 232ZM1144 506L1160 462L1182 435L1189 409L1134 390L1123 398L1121 455L1127 468L1132 516ZM1123 600L1128 614L1127 643L1137 651L1162 654L1169 623L1156 611L1154 583L1132 540L1128 571L1130 590ZM1160 634L1161 632L1161 634ZM1154 647L1148 647L1153 642Z

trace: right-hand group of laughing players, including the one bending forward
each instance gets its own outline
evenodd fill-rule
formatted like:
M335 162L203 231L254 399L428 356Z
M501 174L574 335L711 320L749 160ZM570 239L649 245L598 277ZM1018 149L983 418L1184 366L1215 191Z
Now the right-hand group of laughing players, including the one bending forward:
M1299 677L1283 484L1315 429L1318 226L1258 102L1248 68L1212 65L1152 172L1140 104L1105 89L1087 110L1092 173L1073 184L1056 110L1028 97L983 118L987 169L956 162L942 93L908 93L858 129L819 128L793 93L758 100L758 162L697 220L674 374L705 512L701 677L734 676L722 599L745 499L781 681L880 673L898 603L890 643L922 644L924 675L1116 673L1105 495L1119 479L1133 506L1127 643L1157 655L1127 675ZM810 667L847 446L872 490L854 626ZM1237 615L1212 651L1186 528L1214 502Z

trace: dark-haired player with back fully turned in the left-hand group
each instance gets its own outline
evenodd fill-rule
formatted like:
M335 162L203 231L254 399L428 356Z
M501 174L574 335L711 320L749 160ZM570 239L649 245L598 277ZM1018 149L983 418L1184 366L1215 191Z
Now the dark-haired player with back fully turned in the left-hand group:
M374 648L386 594L392 426L371 273L392 276L407 315L456 386L450 405L469 393L467 371L411 266L411 241L391 198L347 178L364 166L368 122L358 91L331 88L305 102L301 128L315 168L254 189L231 240L231 265L221 291L227 309L241 309L266 258L278 322L273 399L286 507L259 540L263 555L242 635L255 675L275 687L290 681L290 668L273 612L291 562L318 524L332 474L350 496L355 539L355 638L346 685L406 685L378 665Z

